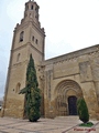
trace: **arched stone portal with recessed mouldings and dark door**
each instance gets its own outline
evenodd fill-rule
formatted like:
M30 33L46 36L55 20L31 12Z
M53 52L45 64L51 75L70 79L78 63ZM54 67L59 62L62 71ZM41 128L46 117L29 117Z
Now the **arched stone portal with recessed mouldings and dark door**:
M55 114L77 115L76 102L82 96L79 84L73 80L65 80L55 89Z

